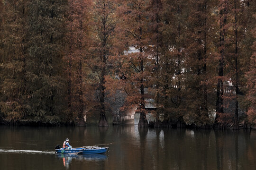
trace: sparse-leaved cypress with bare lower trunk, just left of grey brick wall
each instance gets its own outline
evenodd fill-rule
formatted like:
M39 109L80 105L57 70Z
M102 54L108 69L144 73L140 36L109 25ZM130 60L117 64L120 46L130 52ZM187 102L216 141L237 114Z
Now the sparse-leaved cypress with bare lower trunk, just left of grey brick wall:
M110 75L111 64L113 63L114 28L117 19L115 18L114 0L95 0L93 5L92 20L92 43L90 54L90 68L97 75L94 76L97 98L100 105L100 120L98 126L109 126L106 119L106 76Z

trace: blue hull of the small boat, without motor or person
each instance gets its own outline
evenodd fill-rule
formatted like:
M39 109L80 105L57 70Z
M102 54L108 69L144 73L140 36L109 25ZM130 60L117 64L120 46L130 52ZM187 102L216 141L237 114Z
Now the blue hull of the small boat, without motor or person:
M109 150L108 147L101 147L101 148L61 148L55 149L56 153L81 153L81 154L98 154L98 153L106 153Z

